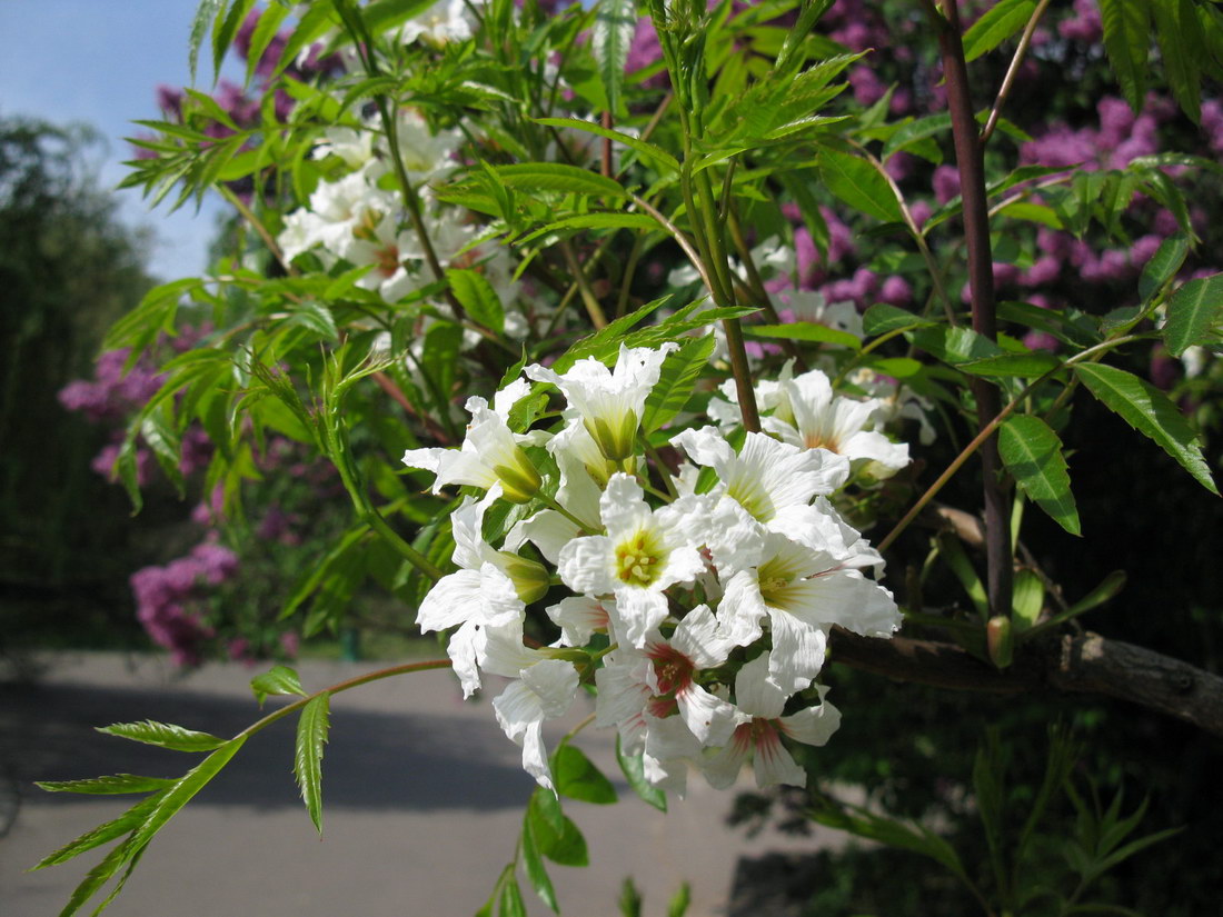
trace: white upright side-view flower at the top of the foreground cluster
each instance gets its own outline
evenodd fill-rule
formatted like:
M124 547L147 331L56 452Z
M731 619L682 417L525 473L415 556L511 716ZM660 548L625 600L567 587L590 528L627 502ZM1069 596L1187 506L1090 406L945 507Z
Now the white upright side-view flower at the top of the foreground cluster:
M564 375L538 364L528 366L526 374L560 389L581 414L603 455L621 462L636 452L637 427L646 397L658 383L667 355L678 348L679 345L671 342L658 350L621 344L614 372L587 357L574 363Z

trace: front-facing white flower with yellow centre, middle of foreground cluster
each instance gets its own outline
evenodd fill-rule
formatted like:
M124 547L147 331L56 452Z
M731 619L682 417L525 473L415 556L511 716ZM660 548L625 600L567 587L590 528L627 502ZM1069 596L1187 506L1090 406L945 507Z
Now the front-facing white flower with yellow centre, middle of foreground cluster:
M685 534L685 514L674 506L652 511L641 485L627 474L612 476L599 509L607 534L566 544L560 577L575 592L614 594L616 636L641 647L647 632L667 617L664 591L691 582L704 561Z

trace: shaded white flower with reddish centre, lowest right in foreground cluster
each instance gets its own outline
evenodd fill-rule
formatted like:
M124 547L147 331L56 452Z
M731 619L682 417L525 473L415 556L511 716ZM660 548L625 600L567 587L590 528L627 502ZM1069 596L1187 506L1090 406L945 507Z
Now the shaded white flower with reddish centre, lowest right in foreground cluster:
M824 701L827 687L819 687L819 705L783 716L788 693L768 677L768 660L757 657L744 665L735 677L735 704L742 721L726 746L702 763L711 786L730 786L751 753L756 785L762 790L777 784L806 786L807 775L781 745L789 736L805 745L824 745L840 725L840 712Z

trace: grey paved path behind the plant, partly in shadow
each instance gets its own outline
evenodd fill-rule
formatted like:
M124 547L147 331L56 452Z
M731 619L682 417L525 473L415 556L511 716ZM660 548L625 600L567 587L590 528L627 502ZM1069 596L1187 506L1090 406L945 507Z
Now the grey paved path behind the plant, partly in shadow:
M308 661L317 688L373 665ZM113 773L176 776L193 756L98 735L93 726L154 719L231 735L257 718L252 671L210 665L179 677L155 659L56 657L34 686L0 685L0 776L17 781L20 808L0 838L0 917L53 917L97 853L24 873L49 851L115 817L125 797L44 794L34 779ZM492 696L492 694L489 694ZM578 712L572 719L581 716ZM292 719L268 729L163 829L108 913L113 917L465 917L484 901L514 853L533 783L490 703L464 703L445 671L391 679L333 702L323 762L324 835L297 798ZM609 735L581 745L613 779ZM750 779L750 775L745 775ZM643 913L665 913L682 880L690 917L725 912L735 862L768 850L811 849L775 834L747 840L725 827L733 794L700 779L669 814L623 781L621 802L567 802L592 867L552 868L565 917L615 915L632 875ZM128 802L130 805L130 802ZM2 816L2 807L0 807ZM2 823L0 823L2 829ZM532 915L548 913L527 890Z

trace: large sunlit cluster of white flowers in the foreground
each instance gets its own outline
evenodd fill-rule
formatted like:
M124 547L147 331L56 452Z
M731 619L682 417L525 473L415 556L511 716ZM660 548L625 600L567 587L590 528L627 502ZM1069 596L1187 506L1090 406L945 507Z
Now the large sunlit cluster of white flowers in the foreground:
M511 430L511 408L531 392L517 379L492 407L467 401L461 449L404 456L433 471L435 488L486 490L454 512L459 570L433 587L418 622L456 628L448 652L466 694L482 674L512 679L493 702L497 718L544 786L543 723L592 681L597 725L643 753L656 785L682 791L696 768L728 786L748 757L761 786L801 785L781 740L823 745L840 721L813 685L830 628L887 637L900 625L892 594L862 573L882 559L828 499L860 455L901 461L904 447L889 451L882 433L849 429L851 417L871 419L871 405L838 408L812 374L773 383L767 432L735 436L741 446L717 427L671 438L687 461L664 494L640 452L640 424L674 347L621 345L614 370L589 358L563 373L530 366L530 380L567 401L558 433ZM813 433L826 429L835 435ZM521 507L499 548L483 534L498 500ZM560 637L528 647L527 605L545 597Z

